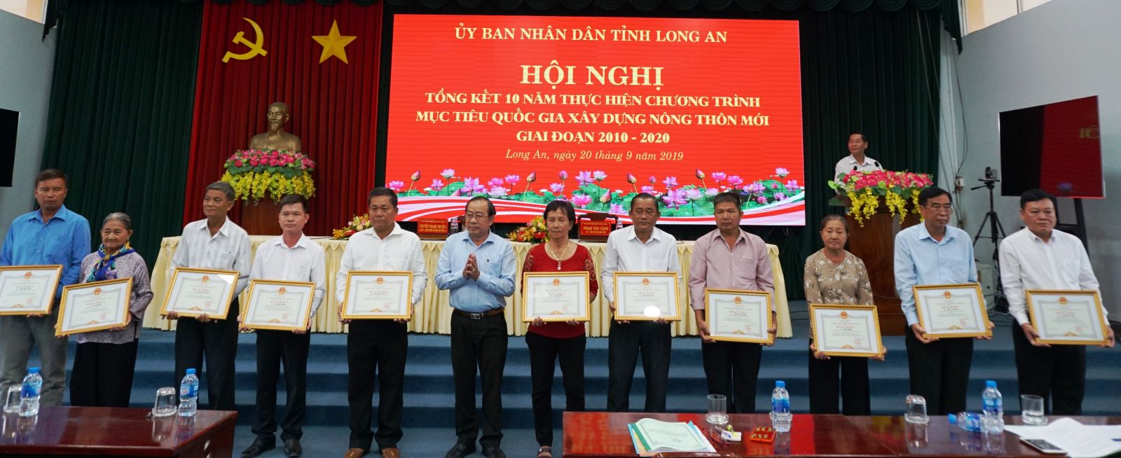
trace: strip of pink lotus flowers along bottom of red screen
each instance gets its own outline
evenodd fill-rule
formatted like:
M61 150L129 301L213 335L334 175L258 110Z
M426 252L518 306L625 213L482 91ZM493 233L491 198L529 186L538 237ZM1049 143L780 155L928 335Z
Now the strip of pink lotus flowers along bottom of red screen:
M695 181L680 177L649 177L645 184L633 174L627 174L631 189L611 189L608 174L603 170L577 170L569 176L560 170L555 180L538 177L536 171L526 176L504 175L485 179L481 176L457 176L455 169L442 169L436 178L421 180L421 170L407 179L389 180L387 186L398 196L485 196L504 200L548 204L568 200L580 209L603 212L614 215L626 214L630 199L639 193L648 193L664 206L663 216L703 216L713 214L712 197L723 191L739 193L743 198L743 209L752 209L777 202L802 200L805 187L796 179L787 179L790 171L784 167L775 174L754 181L725 171L706 174L696 169ZM465 175L465 174L464 174ZM541 183L537 184L540 178ZM575 183L568 181L574 178ZM624 185L626 186L626 185Z

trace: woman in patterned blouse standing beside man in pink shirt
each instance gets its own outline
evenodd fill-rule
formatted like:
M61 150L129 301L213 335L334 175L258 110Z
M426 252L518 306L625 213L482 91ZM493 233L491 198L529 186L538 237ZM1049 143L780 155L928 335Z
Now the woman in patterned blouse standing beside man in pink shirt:
M821 226L825 247L806 259L805 290L808 303L872 305L872 283L860 258L845 251L849 225L843 216L825 215ZM887 348L873 359L883 361ZM837 390L840 372L840 393ZM809 343L809 411L841 413L837 396L844 398L844 414L871 414L868 359L830 357Z

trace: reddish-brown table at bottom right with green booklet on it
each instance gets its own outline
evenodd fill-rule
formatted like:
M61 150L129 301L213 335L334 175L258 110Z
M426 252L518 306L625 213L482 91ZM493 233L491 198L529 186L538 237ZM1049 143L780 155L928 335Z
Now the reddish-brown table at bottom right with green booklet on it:
M692 421L707 430L703 413L565 412L564 457L634 457L627 424L643 418L661 421ZM729 424L743 432L740 442L710 437L716 454L665 454L666 457L1041 457L1011 432L982 434L966 432L942 417L918 426L902 417L845 417L795 413L790 432L776 434L773 442L756 442L748 436L756 427L770 427L766 413L730 414ZM1008 424L1022 424L1019 415L1006 415ZM1050 417L1056 420L1060 417ZM1121 417L1072 417L1083 424L1121 424ZM707 433L707 432L706 432Z

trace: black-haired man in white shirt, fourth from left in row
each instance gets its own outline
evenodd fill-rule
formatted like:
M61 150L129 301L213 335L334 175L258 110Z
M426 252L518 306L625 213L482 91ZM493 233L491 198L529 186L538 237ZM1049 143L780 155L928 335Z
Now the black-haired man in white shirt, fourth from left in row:
M307 353L312 346L312 319L323 302L326 287L326 260L323 246L304 235L308 208L304 196L289 194L279 202L281 235L257 247L250 280L281 280L315 283L312 312L307 327L300 330L257 330L257 414L253 417L253 443L241 452L252 458L276 447L277 378L284 363L285 404L280 440L288 458L303 454L299 438L304 436L304 411L307 393ZM240 318L239 318L240 320ZM248 328L243 328L248 330Z

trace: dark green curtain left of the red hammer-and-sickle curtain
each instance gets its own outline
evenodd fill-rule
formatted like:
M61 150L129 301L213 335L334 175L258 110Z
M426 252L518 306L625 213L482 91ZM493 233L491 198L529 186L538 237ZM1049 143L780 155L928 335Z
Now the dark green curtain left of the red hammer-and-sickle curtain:
M182 228L202 3L76 1L65 11L43 167L70 175L66 206L90 219L93 246L102 218L124 212L151 265L160 239Z

